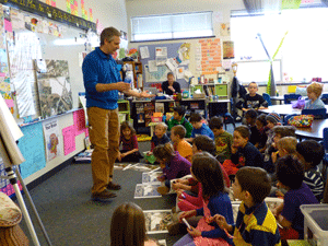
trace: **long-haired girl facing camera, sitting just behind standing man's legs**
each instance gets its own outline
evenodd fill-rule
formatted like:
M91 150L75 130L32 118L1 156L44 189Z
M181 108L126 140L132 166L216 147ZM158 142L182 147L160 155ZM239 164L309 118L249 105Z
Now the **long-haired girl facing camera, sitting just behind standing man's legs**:
M122 150L117 156L119 162L139 162L139 160L142 159L142 155L139 152L136 130L128 121L124 121L120 125L119 143L122 144Z

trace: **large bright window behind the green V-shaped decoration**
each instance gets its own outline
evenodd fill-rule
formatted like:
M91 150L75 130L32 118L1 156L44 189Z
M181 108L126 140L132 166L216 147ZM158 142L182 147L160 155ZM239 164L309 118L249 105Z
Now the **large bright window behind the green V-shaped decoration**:
M282 81L311 81L323 78L328 81L328 22L327 8L307 8L283 10L279 15L234 16L231 19L231 35L234 40L236 61L250 61L257 67L256 60L268 60L268 56L257 37L259 33L272 57L285 32L283 45L276 59L281 60ZM268 66L269 68L269 66ZM256 70L256 68L254 68ZM274 71L274 66L273 66ZM274 71L276 73L276 71ZM269 69L263 82L269 78ZM250 82L250 75L239 78ZM276 79L277 78L277 79ZM279 77L274 77L276 82ZM247 79L247 80L244 80Z

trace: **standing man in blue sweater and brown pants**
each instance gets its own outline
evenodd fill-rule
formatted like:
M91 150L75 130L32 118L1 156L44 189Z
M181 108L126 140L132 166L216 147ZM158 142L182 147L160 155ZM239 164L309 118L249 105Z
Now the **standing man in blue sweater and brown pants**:
M92 199L105 201L116 197L109 190L119 190L113 181L114 163L119 149L118 91L127 95L150 97L145 92L131 91L121 81L117 63L112 55L119 49L120 32L114 27L101 34L101 47L90 52L83 61L90 140L92 153Z

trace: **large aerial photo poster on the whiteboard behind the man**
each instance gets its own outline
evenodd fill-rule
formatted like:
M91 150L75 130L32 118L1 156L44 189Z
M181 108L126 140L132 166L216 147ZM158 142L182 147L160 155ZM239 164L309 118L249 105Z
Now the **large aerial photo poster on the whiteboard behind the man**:
M37 73L39 106L43 118L73 108L72 91L67 60L45 60L47 71Z

